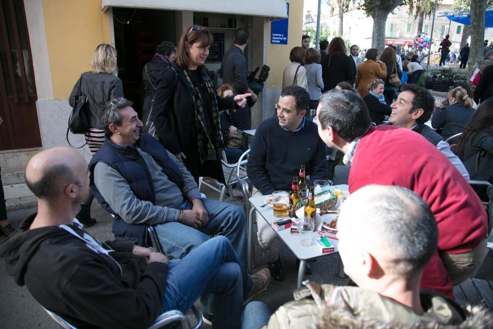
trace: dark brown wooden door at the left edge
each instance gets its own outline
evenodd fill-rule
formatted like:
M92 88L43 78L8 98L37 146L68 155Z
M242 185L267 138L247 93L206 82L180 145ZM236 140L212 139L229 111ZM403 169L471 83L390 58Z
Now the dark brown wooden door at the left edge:
M41 146L24 1L0 0L0 150Z

